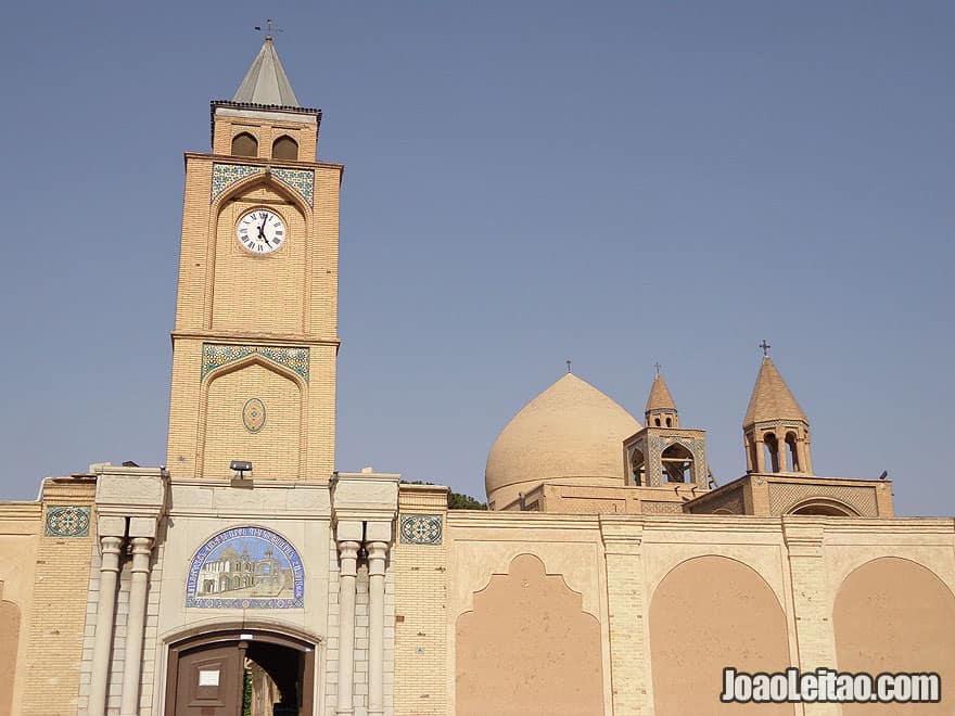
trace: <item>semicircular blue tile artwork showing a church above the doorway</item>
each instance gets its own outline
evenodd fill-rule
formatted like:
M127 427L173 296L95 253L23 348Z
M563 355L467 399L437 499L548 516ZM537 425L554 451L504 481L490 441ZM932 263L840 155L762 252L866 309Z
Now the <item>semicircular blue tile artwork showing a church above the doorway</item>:
M189 565L186 605L301 609L305 574L295 548L264 527L233 527L205 542Z

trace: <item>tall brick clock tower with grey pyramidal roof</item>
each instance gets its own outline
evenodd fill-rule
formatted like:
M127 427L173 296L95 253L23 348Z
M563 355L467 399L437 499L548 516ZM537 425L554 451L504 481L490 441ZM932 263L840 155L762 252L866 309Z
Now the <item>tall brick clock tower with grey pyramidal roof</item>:
M232 460L256 481L334 469L344 167L314 161L320 122L266 38L232 100L212 103L213 152L186 154L173 478L228 478Z

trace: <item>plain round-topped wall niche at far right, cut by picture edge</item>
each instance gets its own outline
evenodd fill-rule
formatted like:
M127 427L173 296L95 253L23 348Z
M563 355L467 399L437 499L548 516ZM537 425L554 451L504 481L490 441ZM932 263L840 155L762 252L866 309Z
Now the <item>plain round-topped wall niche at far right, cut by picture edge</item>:
M930 570L882 557L852 572L832 608L840 672L935 672L937 704L843 704L844 716L946 716L955 713L955 597Z

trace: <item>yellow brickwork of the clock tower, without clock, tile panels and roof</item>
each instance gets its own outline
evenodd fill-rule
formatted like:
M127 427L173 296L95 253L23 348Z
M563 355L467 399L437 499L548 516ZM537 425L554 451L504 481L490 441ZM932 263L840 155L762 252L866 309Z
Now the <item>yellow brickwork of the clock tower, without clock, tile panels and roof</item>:
M284 133L296 130L301 155L314 156L314 125L233 119L216 119L217 152L229 151L234 123L246 129L252 123L260 130L253 133L263 140L271 136L272 124L281 125ZM213 165L237 161L264 168L314 170L315 206L291 196L280 184L259 180L211 202ZM339 190L343 167L222 154L187 154L186 167L167 466L174 477L228 477L230 459L253 456L257 480L327 481L334 470ZM237 217L258 204L273 205L290 229L285 246L268 257L246 254L233 235ZM286 431L294 446L268 439L269 427L257 434L245 432L240 410L216 400L216 392L211 399L209 385L216 376L200 381L205 342L309 348L307 382L294 384L294 376L288 376L289 382L282 386L272 379L275 373L269 376L264 371L251 371L250 379L258 375L262 380L242 381L243 395L233 396L235 400L266 400L272 426L298 425ZM244 367L237 368L242 371ZM215 435L229 437L229 445L209 440L208 436ZM240 443L250 445L237 445L231 439L237 435Z

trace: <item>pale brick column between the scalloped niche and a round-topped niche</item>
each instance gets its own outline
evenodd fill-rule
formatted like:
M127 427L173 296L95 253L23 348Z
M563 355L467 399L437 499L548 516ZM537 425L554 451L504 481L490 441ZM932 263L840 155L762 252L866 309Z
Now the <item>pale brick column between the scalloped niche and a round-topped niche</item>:
M607 561L610 622L610 685L614 714L646 714L650 696L649 655L644 648L648 605L645 593L642 522L600 516Z

